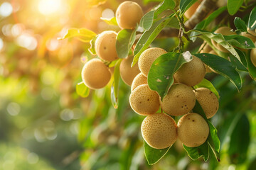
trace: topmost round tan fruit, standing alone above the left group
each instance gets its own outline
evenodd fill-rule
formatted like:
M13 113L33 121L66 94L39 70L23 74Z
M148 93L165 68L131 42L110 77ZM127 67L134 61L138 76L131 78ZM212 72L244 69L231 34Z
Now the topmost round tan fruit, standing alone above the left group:
M117 24L122 29L134 29L143 16L142 7L133 1L124 1L116 11Z

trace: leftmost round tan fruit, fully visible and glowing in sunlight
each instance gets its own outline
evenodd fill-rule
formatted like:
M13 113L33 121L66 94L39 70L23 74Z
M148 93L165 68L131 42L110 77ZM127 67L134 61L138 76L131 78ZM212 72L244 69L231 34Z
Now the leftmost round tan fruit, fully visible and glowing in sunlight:
M92 59L82 68L82 82L90 89L105 87L110 78L108 67L100 59Z

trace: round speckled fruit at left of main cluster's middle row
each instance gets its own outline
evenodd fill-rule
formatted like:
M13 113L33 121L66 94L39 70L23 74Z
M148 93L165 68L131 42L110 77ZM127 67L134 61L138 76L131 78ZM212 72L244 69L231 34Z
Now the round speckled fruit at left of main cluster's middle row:
M159 110L159 95L156 91L149 89L149 85L137 86L129 96L129 103L132 109L139 115L149 115Z

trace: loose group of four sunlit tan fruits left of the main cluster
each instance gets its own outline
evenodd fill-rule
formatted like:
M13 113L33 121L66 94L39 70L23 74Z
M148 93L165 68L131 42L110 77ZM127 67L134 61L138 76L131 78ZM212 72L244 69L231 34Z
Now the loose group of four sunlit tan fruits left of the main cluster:
M134 29L137 27L143 11L139 4L132 1L124 1L116 11L116 19L119 28ZM82 68L82 81L90 89L101 89L105 87L110 79L113 67L106 63L119 59L116 50L117 33L106 30L97 36L95 40L95 52L100 59L92 59L85 63ZM131 86L134 77L139 74L139 67L131 67L133 56L124 58L120 64L119 71L123 81Z

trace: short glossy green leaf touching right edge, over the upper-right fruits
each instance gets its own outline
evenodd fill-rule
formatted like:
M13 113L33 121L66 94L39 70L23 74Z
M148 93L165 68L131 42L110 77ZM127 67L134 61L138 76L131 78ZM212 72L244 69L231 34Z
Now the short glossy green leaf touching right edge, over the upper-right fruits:
M242 35L223 35L225 41L230 45L235 47L240 47L242 49L252 49L255 48L254 42L250 38L244 37ZM220 45L223 42L220 42Z

